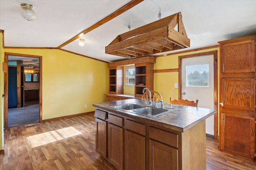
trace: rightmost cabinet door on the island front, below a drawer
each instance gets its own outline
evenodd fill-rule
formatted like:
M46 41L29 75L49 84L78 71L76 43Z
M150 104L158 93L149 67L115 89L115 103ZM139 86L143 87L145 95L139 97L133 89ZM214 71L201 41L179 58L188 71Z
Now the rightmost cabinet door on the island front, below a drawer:
M149 169L177 170L178 149L149 140Z

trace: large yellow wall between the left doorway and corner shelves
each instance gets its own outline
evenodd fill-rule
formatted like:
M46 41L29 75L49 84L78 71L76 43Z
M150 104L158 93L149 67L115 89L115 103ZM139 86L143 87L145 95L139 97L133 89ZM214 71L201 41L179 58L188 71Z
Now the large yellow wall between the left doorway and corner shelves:
M107 63L58 49L4 49L42 56L42 119L94 111L108 93ZM87 104L87 108L85 108Z

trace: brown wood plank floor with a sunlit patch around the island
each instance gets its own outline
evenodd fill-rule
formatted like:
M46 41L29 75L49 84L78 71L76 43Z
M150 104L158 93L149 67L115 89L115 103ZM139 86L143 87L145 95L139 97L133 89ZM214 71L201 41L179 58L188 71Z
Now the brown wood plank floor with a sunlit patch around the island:
M112 170L95 151L93 114L11 127L4 131L0 170ZM256 162L220 152L206 137L207 170L255 170Z

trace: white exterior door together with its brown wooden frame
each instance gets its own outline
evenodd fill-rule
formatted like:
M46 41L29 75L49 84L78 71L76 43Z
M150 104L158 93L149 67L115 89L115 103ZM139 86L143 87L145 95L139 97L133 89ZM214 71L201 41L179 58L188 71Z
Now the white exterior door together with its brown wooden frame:
M217 109L217 51L179 56L179 99ZM218 138L217 113L206 119L206 134Z

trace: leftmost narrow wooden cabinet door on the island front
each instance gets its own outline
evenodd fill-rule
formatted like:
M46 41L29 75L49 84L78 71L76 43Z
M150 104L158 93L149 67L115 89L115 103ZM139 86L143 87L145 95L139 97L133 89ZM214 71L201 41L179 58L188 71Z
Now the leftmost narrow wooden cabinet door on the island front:
M95 129L96 129L96 151L107 158L107 122L95 119Z

